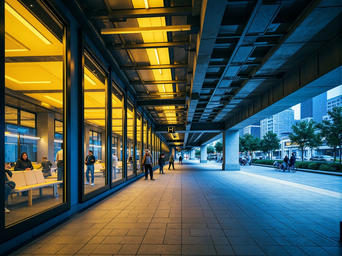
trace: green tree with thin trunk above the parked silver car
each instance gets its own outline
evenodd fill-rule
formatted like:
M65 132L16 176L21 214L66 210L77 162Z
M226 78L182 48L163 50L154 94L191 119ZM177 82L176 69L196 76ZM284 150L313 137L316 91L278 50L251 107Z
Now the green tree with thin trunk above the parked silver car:
M302 152L302 161L304 161L304 149L306 147L310 149L317 149L322 145L322 140L319 133L315 133L315 122L300 121L297 124L292 125L293 132L289 135L291 145L294 148L299 149Z

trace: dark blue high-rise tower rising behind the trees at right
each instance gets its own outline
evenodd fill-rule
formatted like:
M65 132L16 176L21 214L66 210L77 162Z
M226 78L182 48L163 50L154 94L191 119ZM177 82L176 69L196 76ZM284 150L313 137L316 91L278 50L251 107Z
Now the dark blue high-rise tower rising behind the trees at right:
M316 97L304 101L300 104L300 118L304 119L312 117L315 122L323 120L323 116L327 114L327 92L317 95Z

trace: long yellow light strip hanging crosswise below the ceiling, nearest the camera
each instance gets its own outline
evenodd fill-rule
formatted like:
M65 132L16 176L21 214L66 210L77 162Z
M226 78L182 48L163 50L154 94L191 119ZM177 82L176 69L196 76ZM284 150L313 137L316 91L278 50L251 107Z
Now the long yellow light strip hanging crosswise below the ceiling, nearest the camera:
M168 31L185 31L190 30L190 25L177 26L159 26L159 27L134 27L134 28L103 28L101 34L130 34L130 33L147 33L147 32L168 32Z

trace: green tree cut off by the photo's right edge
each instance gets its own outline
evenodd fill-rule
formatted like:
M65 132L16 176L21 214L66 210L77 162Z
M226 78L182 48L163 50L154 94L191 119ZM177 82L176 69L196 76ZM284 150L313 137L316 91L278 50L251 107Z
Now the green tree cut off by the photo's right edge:
M327 145L334 149L334 162L336 161L336 149L339 147L341 163L342 107L334 107L327 113L332 120L323 120L316 125L316 128L320 130L319 135L325 138Z

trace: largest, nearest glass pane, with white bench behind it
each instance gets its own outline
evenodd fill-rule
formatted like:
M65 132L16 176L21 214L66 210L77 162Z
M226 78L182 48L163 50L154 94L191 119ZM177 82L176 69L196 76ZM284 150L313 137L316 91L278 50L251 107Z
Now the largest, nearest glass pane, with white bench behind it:
M55 120L63 121L64 26L39 0L6 0L5 155L16 188L6 201L5 226L65 202L65 170L55 163ZM63 127L58 151L63 142ZM63 151L62 151L63 152ZM44 156L44 161L43 161ZM64 154L60 154L63 159ZM42 168L43 167L43 168ZM39 169L42 168L42 169ZM25 177L25 179L23 179ZM16 191L30 180L32 189ZM43 186L51 181L50 186ZM24 183L23 183L24 182ZM57 188L56 185L57 184ZM47 216L47 215L45 215ZM40 221L44 218L42 215ZM11 228L9 228L11 230Z

